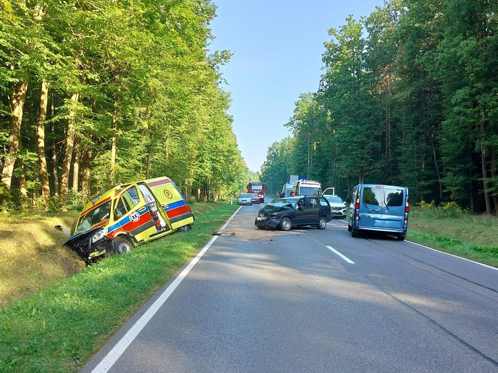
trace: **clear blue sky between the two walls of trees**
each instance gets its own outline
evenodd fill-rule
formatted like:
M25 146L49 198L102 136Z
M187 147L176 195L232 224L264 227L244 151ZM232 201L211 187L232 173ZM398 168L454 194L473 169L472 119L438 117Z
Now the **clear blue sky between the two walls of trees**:
M211 50L234 53L222 67L232 93L234 130L251 171L289 132L283 125L300 93L315 92L327 30L370 14L383 0L214 0Z

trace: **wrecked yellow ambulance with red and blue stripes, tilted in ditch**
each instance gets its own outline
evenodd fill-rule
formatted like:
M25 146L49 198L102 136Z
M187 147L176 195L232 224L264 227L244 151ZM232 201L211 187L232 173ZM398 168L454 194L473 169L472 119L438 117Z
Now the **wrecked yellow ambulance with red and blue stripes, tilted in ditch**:
M167 177L119 183L83 207L74 234L64 245L91 264L177 230L187 231L194 220L180 189Z

